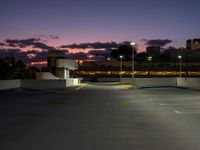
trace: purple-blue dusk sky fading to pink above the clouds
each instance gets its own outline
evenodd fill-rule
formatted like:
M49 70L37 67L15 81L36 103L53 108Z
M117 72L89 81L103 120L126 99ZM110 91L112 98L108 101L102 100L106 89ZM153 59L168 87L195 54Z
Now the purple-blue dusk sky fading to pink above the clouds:
M199 0L1 0L0 42L134 41L142 51L143 39L169 39L166 46L185 47L200 38L199 6Z

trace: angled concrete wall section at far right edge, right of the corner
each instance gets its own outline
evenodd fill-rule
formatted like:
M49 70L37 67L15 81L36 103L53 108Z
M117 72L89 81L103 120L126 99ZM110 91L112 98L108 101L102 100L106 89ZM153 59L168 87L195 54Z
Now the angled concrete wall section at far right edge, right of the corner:
M200 78L177 78L177 86L200 90Z

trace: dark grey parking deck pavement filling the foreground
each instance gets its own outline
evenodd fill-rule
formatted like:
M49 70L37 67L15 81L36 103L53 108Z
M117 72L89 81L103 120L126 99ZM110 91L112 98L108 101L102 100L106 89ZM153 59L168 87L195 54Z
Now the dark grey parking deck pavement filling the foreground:
M0 150L199 150L200 92L128 90L0 93Z

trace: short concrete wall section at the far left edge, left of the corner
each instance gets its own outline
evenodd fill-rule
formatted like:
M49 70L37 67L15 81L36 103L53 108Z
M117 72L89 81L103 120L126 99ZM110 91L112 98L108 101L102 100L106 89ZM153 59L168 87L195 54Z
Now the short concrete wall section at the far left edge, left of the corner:
M20 80L0 80L0 90L20 88Z

